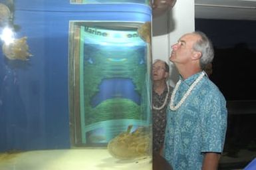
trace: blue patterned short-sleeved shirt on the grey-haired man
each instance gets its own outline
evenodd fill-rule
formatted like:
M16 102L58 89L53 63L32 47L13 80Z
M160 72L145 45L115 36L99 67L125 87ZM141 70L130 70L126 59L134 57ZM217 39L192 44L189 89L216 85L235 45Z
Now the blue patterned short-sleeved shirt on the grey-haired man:
M182 80L174 105L199 74L201 72ZM223 151L226 129L225 98L217 86L203 76L178 110L168 107L164 157L174 170L201 169L205 152Z

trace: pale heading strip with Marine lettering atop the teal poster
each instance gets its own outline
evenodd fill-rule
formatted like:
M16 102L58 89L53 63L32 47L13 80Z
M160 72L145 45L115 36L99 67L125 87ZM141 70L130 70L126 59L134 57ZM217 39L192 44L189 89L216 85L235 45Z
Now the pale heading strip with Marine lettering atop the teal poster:
M84 32L101 37L114 37L114 38L138 38L138 33L134 31L106 31L104 29L95 29L91 27L84 27Z

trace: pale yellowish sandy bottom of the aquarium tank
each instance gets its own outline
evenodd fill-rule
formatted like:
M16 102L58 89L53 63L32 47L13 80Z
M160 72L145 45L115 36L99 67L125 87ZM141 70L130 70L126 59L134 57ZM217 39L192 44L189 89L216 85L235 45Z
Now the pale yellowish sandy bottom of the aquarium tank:
M118 160L106 149L57 149L0 153L1 170L151 170L152 157Z

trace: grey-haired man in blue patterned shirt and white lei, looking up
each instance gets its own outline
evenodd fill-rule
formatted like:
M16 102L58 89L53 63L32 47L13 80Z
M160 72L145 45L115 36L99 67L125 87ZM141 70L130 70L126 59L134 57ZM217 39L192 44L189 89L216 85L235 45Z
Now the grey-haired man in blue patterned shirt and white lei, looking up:
M170 61L180 73L166 118L164 157L174 170L217 170L227 129L226 101L203 71L213 60L204 33L182 36Z

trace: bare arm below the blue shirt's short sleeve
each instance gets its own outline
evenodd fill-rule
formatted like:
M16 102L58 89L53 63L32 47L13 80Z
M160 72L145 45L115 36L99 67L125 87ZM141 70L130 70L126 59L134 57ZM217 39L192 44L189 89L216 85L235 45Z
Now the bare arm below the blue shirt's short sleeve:
M202 170L217 170L219 165L220 153L207 152L203 159Z

